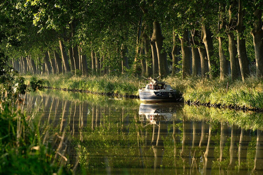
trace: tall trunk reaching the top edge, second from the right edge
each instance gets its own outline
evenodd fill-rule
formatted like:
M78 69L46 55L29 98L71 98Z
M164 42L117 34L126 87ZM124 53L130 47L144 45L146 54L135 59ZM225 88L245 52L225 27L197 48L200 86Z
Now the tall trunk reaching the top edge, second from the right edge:
M250 74L249 59L246 53L246 40L244 37L245 26L244 26L245 9L243 8L242 0L238 3L238 22L236 26L237 32L237 53L240 65L240 71L243 82L246 77Z

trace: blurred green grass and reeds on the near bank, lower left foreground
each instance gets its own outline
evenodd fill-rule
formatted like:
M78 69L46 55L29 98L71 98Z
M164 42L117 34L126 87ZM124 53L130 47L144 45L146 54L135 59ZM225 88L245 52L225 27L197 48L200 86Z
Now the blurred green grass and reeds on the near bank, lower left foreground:
M0 101L0 173L70 174L65 168L67 160L57 155L63 155L65 148L59 142L67 141L59 134L49 134L47 126L35 122L36 113L27 114L23 101L5 101L6 95L2 92ZM51 144L52 140L56 142Z

